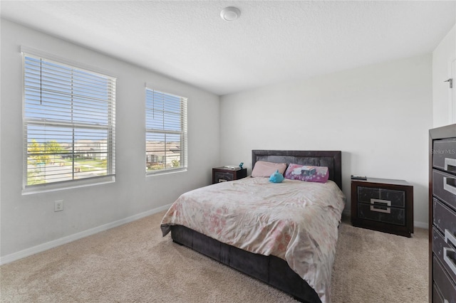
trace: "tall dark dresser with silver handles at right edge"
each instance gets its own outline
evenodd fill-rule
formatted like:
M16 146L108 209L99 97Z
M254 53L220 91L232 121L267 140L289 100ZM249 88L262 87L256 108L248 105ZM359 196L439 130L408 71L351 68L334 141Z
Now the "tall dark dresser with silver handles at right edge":
M456 124L429 131L429 302L456 303Z

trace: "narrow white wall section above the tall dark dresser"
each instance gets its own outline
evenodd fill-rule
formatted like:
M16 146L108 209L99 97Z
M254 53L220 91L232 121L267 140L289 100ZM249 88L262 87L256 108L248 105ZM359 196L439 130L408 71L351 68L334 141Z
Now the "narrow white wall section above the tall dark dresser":
M456 25L440 41L432 52L432 100L433 126L441 127L456 123L450 117L450 85L444 81L451 78L451 62L456 60ZM456 90L456 79L453 79L453 90Z

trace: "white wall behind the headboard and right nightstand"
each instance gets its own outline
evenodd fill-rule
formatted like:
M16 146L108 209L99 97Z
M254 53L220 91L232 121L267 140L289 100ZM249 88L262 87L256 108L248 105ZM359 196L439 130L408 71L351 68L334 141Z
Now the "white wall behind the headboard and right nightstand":
M344 212L351 174L404 179L425 227L431 76L428 54L222 96L222 163L251 168L252 149L341 150Z

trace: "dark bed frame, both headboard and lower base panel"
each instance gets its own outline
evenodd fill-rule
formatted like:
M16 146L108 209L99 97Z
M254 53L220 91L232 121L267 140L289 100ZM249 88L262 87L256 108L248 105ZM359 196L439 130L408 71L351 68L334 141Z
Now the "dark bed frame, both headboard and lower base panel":
M342 188L341 151L252 150L252 168L257 161L327 166L329 179ZM171 226L171 238L229 267L276 287L300 302L321 302L315 290L291 270L285 260L264 256L221 243L182 225Z

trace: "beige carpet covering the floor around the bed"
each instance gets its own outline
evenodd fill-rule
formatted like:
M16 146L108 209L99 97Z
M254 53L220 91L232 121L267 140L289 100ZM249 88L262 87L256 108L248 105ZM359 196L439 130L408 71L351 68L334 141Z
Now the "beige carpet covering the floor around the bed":
M0 267L1 302L296 302L162 238L163 213ZM404 238L343 223L333 303L427 302L427 230Z

